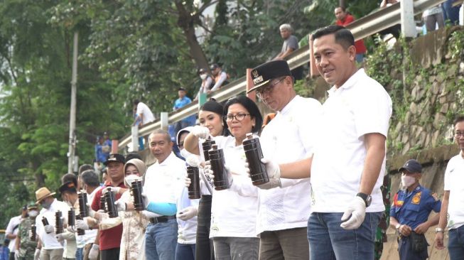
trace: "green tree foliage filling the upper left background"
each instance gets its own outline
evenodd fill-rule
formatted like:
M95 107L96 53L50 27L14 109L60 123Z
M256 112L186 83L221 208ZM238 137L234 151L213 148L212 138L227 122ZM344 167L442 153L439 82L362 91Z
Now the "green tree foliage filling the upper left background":
M315 11L303 11L315 2L320 3ZM6 182L0 189L21 193L0 202L1 208L34 200L33 191L43 185L55 190L67 172L75 32L77 155L80 163L91 163L96 135L109 131L119 139L129 132L132 99L153 112L171 111L178 87L190 96L198 91L198 68L220 63L232 79L241 77L247 67L279 53L280 24L291 23L301 38L331 23L335 5L334 0L1 1L0 175ZM205 10L213 7L211 23ZM205 33L198 40L200 28Z

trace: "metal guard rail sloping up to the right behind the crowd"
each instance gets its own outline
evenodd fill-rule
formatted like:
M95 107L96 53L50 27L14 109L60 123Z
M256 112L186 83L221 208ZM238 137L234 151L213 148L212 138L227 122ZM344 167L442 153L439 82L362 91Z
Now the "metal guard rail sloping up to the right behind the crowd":
M414 1L414 15L422 13L426 9L436 6L443 3L446 0L416 0ZM369 15L357 19L356 21L350 23L346 28L350 29L355 40L360 40L366 38L367 36L372 36L375 33L379 33L386 28L394 26L396 23L401 21L401 10L400 3L393 4L384 9L379 9L374 11ZM309 62L310 59L310 50L309 45L305 45L298 50L288 55L286 58L288 66L293 70L296 67L304 65ZM218 90L212 94L211 97L216 99L218 102L225 101L231 97L237 96L245 92L247 87L247 77L240 77L233 82L222 87L221 90ZM192 102L177 112L171 112L168 116L168 123L173 124L176 121L189 117L198 112L198 102ZM161 128L161 120L154 121L151 124L147 124L139 129L139 136L148 136L152 131ZM127 134L121 140L119 140L119 149L124 149L127 144L131 141L131 134Z

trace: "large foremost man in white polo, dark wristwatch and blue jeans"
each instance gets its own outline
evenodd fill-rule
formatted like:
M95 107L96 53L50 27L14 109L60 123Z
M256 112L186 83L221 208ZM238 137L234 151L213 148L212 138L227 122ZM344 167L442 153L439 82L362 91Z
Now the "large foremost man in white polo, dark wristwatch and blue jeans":
M321 28L311 40L315 65L333 85L323 104L322 131L312 158L267 163L268 173L273 178L311 176L311 260L374 259L375 232L385 210L380 186L392 99L357 69L355 38L346 28Z

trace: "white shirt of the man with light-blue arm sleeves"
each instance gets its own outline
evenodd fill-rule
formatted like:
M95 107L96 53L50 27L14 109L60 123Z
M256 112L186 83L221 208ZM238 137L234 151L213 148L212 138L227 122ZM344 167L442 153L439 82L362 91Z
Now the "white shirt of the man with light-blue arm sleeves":
M185 161L171 152L163 162L156 161L146 169L144 193L151 202L176 204L186 173ZM144 214L147 217L161 216L146 210Z

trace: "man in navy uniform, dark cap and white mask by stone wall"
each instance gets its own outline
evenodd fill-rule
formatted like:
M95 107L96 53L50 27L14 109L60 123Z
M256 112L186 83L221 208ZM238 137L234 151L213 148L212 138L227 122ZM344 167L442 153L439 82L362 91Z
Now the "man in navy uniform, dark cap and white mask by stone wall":
M428 219L433 210L440 212L441 201L435 193L419 184L422 176L421 164L411 159L399 169L401 184L405 190L399 190L394 195L393 205L390 209L390 226L396 228L399 234L399 259L419 260L427 259L427 246L424 234L429 227L438 224L439 214ZM415 237L422 240L423 247L413 242Z

